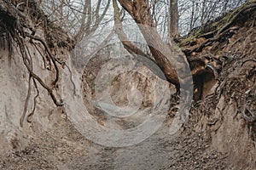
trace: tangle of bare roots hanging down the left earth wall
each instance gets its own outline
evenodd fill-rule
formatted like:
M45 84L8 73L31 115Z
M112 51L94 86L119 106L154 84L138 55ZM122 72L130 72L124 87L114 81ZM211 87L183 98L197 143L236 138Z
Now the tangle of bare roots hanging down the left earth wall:
M21 4L19 3L19 5ZM46 18L42 10L38 8L37 3L35 3L34 1L26 1L26 3L22 3L22 5L24 5L24 8L26 8L26 10L24 10L25 12L21 12L19 8L15 6L14 1L0 1L0 48L2 48L3 50L8 48L10 61L13 54L13 47L17 46L17 49L20 52L23 63L26 66L26 70L29 74L29 88L26 95L24 111L20 117L20 127L23 126L23 122L26 117L28 102L31 98L32 88L35 88L37 91L37 95L33 99L33 109L27 116L27 122L31 122L31 118L34 114L37 105L37 98L39 95L38 84L40 84L45 90L47 90L49 96L51 97L56 106L64 105L63 100L58 99L56 96L58 95L57 91L58 82L60 80L61 66L67 67L65 61L63 59L57 59L54 54L54 52L57 50L56 48L60 47L55 47L55 45L50 46L50 44L55 44L56 41L59 42L61 37L58 37L56 41L54 41L53 39L49 40L49 38L46 38L48 41L45 41L43 38L37 36L37 26L39 26L40 24L42 25L46 33L49 31L49 27L47 25L48 19ZM29 17L27 18L26 16ZM42 20L44 22L42 22ZM32 26L31 23L33 23ZM43 79L33 71L33 58L30 54L29 48L27 47L27 39L29 39L29 42L36 48L36 50L38 50L38 53L42 55L42 59L44 59L44 65L49 65L50 68L51 65L53 65L54 70L51 71L55 73L55 79L51 80L50 84L44 82ZM72 42L69 38L67 39L67 42ZM65 48L67 48L67 46L68 45L65 43ZM45 56L40 51L42 47ZM69 50L72 47L73 46L68 46ZM48 63L46 63L47 61Z

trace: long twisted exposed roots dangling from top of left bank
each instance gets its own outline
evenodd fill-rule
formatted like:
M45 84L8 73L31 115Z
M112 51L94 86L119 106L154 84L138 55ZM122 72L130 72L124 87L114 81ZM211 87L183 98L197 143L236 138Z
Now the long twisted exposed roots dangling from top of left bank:
M35 36L36 31L33 30L32 26L29 26L29 24L28 24L29 22L27 22L27 20L30 20L30 19L27 19L26 14L23 14L19 11L18 7L22 4L19 3L15 7L15 5L10 0L1 0L0 1L0 13L3 15L3 17L0 17L0 20L1 20L0 28L1 28L1 32L2 31L5 32L5 37L2 37L2 38L8 38L8 40L12 39L13 41L9 41L9 43L15 42L17 44L18 50L20 51L21 57L23 59L23 63L24 63L24 65L26 65L26 69L29 72L28 92L26 95L26 102L24 105L24 110L20 117L20 127L23 126L23 122L24 122L24 119L26 116L28 102L29 102L29 99L31 96L31 91L32 91L32 86L33 86L36 89L37 94L33 99L34 105L32 108L32 112L27 116L27 122L31 122L31 118L36 109L37 98L39 95L37 83L39 83L43 88L45 88L48 91L49 96L51 97L51 99L53 100L53 102L55 103L56 106L64 105L64 102L62 101L62 99L60 99L60 101L59 101L59 99L57 99L55 97L54 91L57 88L57 82L59 81L59 78L60 78L60 76L59 76L60 71L59 71L59 67L57 64L60 64L62 66L67 66L65 64L65 62L59 62L55 58L54 54L52 54L49 49L48 43L45 42L43 38ZM27 11L30 11L29 8L33 8L32 6L34 6L35 8L38 8L37 3L33 2L33 1L26 2ZM38 14L40 14L40 11L38 11ZM29 14L27 14L27 15L29 15ZM29 29L30 31L32 31L32 33L26 32L25 29ZM45 28L45 29L47 29L47 28ZM29 49L26 46L26 42L24 41L26 39L26 37L30 38L30 42L32 43L32 45L37 49L38 53L42 55L43 60L44 60L44 66L46 67L46 65L48 65L48 64L46 64L46 59L44 59L44 55L39 50L38 44L35 44L34 41L38 41L38 42L40 42L40 44L43 45L44 51L47 54L47 58L49 58L49 65L51 63L54 65L55 80L52 82L52 85L48 85L46 82L44 82L42 80L41 77L39 77L36 73L34 73L33 68L32 68L32 66L33 66L32 65L32 63L33 63L32 56L29 53ZM5 44L3 43L3 41L1 41L1 44L2 44L2 46L5 47ZM12 46L13 46L13 44L8 44L9 55L12 54ZM70 71L69 68L68 68L68 70ZM71 73L71 77L72 77L72 73ZM74 86L74 83L73 83L73 86Z

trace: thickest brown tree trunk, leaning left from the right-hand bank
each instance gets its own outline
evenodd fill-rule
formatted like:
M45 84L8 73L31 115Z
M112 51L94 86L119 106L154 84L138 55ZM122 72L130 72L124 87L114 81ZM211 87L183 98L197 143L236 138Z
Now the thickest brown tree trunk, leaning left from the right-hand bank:
M150 14L148 0L119 0L119 3L136 21L157 65L166 75L166 79L176 86L186 83L188 78L187 71L185 71L188 68L187 59L177 44L171 42L170 48L160 38Z

